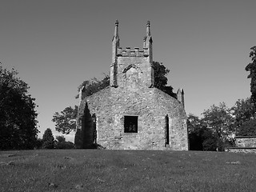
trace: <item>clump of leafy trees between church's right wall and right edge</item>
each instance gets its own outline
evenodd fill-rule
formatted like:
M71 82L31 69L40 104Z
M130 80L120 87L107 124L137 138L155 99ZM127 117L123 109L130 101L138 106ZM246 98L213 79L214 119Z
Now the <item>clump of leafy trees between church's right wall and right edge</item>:
M255 108L250 98L238 99L231 108L221 102L202 115L188 115L190 150L224 150L234 146L234 135L256 135Z

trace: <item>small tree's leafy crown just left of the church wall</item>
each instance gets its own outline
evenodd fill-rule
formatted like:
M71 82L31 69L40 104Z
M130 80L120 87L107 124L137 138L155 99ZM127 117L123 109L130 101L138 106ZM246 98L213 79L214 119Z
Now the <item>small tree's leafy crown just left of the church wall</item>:
M55 112L52 121L55 122L55 130L62 134L70 134L70 131L76 128L76 117L78 114L78 106L66 107L60 113Z

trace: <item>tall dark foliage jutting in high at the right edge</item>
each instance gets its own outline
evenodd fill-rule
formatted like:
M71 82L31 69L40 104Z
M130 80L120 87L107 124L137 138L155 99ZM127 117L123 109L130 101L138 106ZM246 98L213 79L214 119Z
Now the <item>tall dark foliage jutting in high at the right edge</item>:
M250 78L250 93L252 102L256 102L256 46L250 48L251 61L246 66L246 71L250 71L247 78Z

